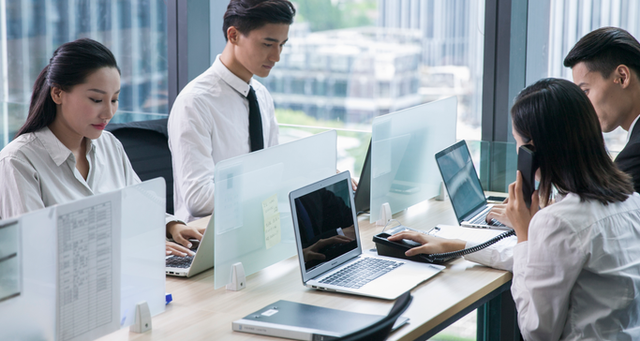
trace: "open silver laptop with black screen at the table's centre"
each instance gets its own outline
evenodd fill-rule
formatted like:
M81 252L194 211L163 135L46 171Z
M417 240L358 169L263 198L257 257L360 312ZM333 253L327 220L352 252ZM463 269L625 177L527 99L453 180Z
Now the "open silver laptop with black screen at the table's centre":
M392 300L443 269L363 254L348 171L292 191L289 202L309 288Z

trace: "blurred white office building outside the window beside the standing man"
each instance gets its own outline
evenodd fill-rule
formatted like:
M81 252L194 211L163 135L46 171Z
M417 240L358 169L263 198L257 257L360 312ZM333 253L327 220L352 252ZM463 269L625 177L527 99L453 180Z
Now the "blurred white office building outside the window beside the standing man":
M294 24L267 86L276 108L368 125L421 104L418 32L362 27L311 33Z

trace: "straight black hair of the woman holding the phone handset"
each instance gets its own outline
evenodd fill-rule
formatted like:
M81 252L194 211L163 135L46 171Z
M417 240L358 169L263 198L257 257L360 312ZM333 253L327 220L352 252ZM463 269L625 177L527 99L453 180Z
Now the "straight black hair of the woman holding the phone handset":
M511 119L516 132L535 145L544 204L549 204L552 185L561 194L605 205L633 193L631 178L607 154L595 109L577 85L564 79L538 81L516 97Z

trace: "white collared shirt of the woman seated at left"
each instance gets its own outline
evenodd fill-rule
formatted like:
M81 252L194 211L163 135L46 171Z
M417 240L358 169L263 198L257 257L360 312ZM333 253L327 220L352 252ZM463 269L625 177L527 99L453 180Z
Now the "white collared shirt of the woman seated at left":
M122 144L108 131L87 141L87 161L85 180L71 150L49 128L20 135L0 151L0 217L140 183ZM168 214L166 220L178 221Z

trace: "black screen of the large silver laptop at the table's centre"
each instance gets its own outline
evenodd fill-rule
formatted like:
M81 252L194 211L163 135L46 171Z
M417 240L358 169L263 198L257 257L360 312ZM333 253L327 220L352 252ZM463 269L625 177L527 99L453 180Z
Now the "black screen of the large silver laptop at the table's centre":
M358 247L351 184L343 180L295 198L304 269L312 271Z

